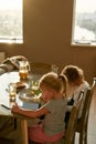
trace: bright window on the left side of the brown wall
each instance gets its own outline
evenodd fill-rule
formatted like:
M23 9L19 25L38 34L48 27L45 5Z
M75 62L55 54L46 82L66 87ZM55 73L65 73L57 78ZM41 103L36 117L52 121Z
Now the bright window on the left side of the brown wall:
M0 0L0 43L22 42L22 0Z

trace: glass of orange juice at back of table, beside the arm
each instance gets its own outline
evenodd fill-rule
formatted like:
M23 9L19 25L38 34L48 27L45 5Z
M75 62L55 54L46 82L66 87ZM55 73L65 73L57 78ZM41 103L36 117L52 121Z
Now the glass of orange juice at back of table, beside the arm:
M20 79L28 79L29 68L28 68L26 61L20 61L19 75L20 75Z

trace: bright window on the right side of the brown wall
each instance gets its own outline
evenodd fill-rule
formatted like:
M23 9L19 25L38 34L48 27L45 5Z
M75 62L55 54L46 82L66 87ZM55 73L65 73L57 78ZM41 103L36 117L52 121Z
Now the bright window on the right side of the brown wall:
M74 0L72 44L96 45L96 0Z

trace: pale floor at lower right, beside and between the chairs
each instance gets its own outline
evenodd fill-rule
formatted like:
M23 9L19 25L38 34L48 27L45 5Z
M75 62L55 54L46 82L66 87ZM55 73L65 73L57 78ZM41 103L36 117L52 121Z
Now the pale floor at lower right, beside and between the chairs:
M75 144L78 144L78 134L76 134ZM89 111L87 144L96 144L96 90L93 95L90 111Z

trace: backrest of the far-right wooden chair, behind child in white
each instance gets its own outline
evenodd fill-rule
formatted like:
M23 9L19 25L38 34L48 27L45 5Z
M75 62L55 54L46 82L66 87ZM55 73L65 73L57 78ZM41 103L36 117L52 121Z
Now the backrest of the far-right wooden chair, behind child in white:
M95 85L96 85L96 79L93 80L92 86L88 88L88 90L86 92L84 106L83 106L83 112L82 112L82 117L77 122L76 132L79 132L83 128L87 128L89 107L90 107Z

